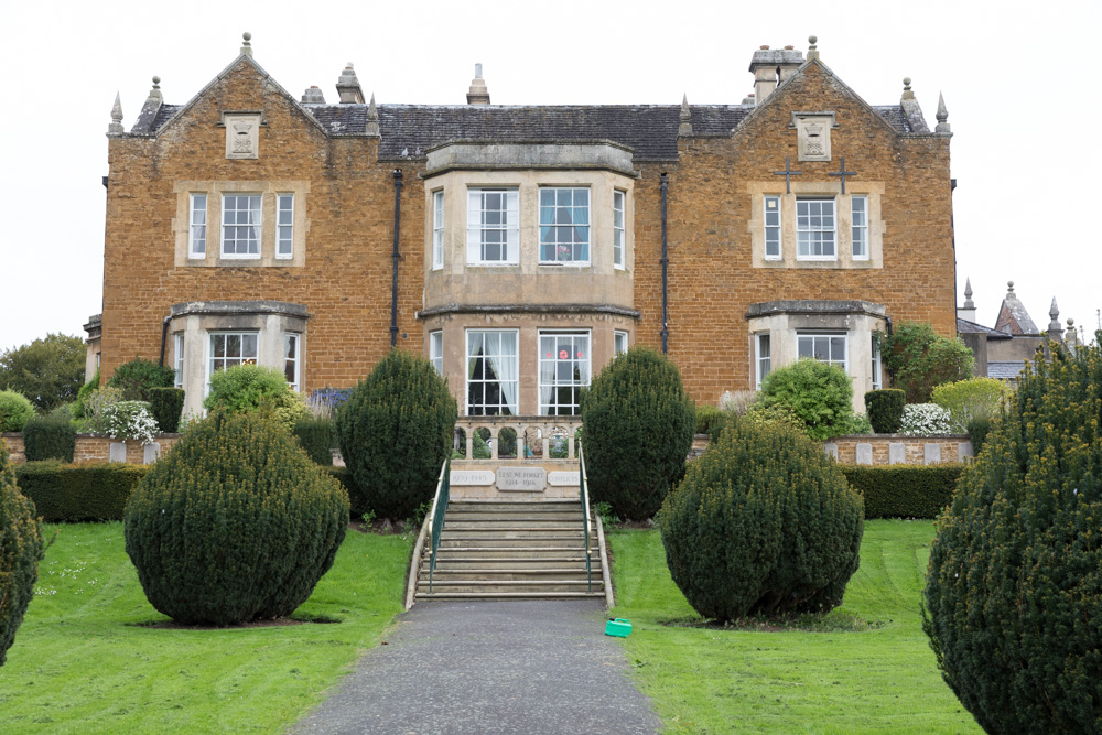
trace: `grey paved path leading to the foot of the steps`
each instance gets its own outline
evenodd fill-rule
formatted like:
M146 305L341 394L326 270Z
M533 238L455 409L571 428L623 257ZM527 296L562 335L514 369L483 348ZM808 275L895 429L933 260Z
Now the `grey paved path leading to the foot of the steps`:
M657 733L599 601L422 602L293 733Z

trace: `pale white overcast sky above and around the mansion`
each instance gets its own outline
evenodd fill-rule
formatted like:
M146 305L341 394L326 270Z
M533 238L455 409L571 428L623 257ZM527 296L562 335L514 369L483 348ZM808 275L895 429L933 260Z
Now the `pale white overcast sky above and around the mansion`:
M0 2L0 349L84 335L101 311L107 139L161 77L183 104L238 54L295 97L329 101L346 62L380 102L462 104L474 71L495 104L737 104L761 44L807 51L872 105L909 76L932 128L952 125L958 291L994 325L1006 281L1045 328L1090 332L1102 307L1094 221L1102 108L1095 1L1037 2ZM161 315L150 315L160 320Z

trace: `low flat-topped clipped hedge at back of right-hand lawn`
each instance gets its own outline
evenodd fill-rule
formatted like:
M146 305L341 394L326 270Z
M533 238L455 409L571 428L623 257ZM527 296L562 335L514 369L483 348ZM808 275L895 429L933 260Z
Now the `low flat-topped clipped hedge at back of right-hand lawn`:
M865 496L865 518L937 518L949 505L964 465L839 465Z

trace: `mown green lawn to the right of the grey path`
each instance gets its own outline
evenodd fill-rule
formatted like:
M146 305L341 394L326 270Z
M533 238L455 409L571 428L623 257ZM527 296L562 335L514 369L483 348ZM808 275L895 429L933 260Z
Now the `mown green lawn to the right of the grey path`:
M609 534L616 608L635 681L668 732L982 733L942 681L919 602L933 522L865 521L842 612L862 633L661 625L699 616L670 579L658 531Z

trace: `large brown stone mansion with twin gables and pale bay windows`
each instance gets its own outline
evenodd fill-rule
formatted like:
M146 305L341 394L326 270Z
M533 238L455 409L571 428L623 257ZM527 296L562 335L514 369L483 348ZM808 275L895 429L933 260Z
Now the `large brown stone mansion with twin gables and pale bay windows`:
M353 66L301 98L240 54L182 104L118 100L102 377L214 370L299 390L422 353L466 415L569 415L629 345L667 352L700 402L798 357L879 387L872 335L955 335L950 128L909 79L873 106L820 58L763 46L754 94L714 105L377 104ZM749 83L749 80L747 80ZM733 93L734 94L734 93Z

